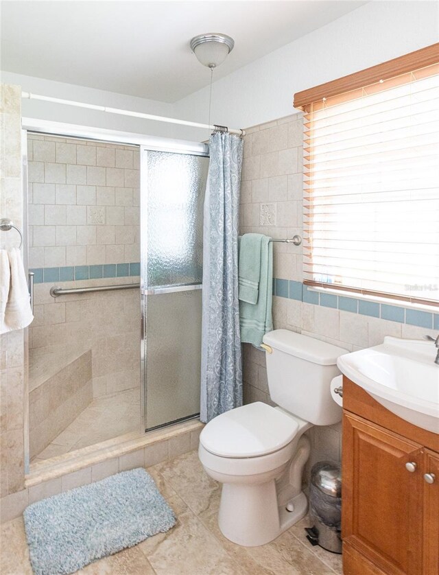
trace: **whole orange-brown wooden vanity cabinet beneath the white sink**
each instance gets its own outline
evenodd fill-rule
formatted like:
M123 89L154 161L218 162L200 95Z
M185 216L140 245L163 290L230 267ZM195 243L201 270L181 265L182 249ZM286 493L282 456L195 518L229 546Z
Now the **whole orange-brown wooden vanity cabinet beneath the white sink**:
M344 575L439 575L439 436L346 377L343 408Z

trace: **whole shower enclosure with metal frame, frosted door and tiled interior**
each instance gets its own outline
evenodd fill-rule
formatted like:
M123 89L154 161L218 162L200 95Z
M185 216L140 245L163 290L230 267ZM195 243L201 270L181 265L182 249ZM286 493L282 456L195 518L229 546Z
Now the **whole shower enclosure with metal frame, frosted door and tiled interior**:
M25 135L29 459L197 416L208 146Z

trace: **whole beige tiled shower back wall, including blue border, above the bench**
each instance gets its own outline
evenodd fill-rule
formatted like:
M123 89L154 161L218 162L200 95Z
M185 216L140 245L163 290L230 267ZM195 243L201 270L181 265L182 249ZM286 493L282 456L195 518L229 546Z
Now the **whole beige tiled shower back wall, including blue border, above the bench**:
M29 268L35 273L29 384L91 349L93 397L139 388L139 150L29 134Z

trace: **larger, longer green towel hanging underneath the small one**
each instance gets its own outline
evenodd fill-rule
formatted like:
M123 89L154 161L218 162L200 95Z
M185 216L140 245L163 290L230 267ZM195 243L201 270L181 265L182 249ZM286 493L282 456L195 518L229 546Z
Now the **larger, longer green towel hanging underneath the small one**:
M270 237L261 239L261 266L259 274L259 298L257 303L239 302L239 325L241 342L260 347L265 333L272 331L273 298L273 246Z

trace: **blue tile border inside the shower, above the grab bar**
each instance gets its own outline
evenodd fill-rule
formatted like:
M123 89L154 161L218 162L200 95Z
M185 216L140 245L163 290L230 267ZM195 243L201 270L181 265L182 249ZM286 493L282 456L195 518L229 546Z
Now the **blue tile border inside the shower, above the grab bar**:
M32 268L34 283L54 283L100 279L103 277L135 277L140 275L140 263L104 263L98 266L64 266L62 268ZM288 294L287 296L288 297Z

